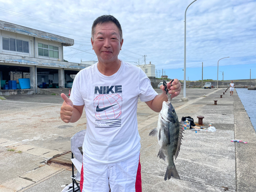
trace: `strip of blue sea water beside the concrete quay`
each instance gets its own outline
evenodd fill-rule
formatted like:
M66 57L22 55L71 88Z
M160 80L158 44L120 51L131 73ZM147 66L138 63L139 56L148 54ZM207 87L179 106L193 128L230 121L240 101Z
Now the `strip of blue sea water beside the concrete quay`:
M256 90L248 90L247 88L236 88L238 96L244 105L251 123L256 131Z

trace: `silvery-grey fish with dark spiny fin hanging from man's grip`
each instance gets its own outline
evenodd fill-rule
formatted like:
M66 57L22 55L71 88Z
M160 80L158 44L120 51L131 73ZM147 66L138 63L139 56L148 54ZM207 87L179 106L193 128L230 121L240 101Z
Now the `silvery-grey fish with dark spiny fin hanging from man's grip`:
M167 168L164 176L164 180L169 180L171 177L180 179L177 172L176 166L174 164L174 158L177 159L181 139L183 134L182 124L178 120L178 116L175 109L170 102L171 98L169 93L168 101L163 101L162 110L158 116L157 127L152 130L149 136L157 136L158 144L160 145L160 150L157 157L167 161Z

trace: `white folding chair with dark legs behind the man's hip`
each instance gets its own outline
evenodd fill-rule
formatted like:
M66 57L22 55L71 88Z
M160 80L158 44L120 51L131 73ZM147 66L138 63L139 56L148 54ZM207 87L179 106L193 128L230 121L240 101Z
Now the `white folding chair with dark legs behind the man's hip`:
M84 135L86 135L86 130L77 132L71 139L71 152L72 152L72 183L67 185L61 192L76 192L80 191L80 174L82 168L82 144ZM74 158L75 155L75 158ZM74 166L77 169L77 173L74 174ZM76 186L75 186L76 184Z

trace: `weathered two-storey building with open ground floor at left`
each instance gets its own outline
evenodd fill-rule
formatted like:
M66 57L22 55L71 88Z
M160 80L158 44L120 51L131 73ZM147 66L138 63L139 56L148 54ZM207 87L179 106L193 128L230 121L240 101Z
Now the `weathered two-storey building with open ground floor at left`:
M84 68L63 60L63 46L73 45L73 39L0 20L0 95L72 87L74 76ZM6 84L15 80L17 90L8 89ZM28 89L18 89L23 80Z

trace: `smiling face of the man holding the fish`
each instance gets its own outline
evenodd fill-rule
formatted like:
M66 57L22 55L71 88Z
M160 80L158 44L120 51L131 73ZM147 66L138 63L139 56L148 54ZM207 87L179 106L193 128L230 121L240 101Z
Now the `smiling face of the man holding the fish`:
M98 24L95 27L94 38L91 39L93 50L100 62L115 62L121 50L123 39L117 26L110 23Z

